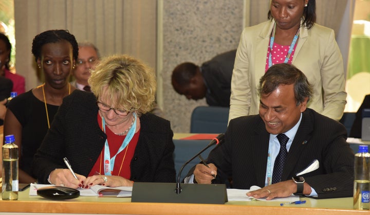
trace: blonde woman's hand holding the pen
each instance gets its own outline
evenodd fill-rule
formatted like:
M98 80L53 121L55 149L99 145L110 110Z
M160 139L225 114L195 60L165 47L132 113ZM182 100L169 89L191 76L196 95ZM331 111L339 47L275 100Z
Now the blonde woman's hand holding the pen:
M86 177L76 174L78 180L72 175L69 169L55 169L50 172L49 180L51 184L62 187L78 188L82 187Z

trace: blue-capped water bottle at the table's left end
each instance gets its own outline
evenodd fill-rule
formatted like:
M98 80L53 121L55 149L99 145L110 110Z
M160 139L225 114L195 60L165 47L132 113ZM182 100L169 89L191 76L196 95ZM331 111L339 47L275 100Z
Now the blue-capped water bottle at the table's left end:
M3 145L3 200L18 199L18 147L14 140L14 135L7 135Z

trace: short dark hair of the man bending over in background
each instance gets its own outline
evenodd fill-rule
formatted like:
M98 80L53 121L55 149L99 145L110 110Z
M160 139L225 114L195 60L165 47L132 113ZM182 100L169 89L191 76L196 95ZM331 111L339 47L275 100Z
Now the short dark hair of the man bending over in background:
M187 85L190 83L190 79L196 75L197 69L198 66L194 63L181 63L172 71L172 81L175 81L181 86Z

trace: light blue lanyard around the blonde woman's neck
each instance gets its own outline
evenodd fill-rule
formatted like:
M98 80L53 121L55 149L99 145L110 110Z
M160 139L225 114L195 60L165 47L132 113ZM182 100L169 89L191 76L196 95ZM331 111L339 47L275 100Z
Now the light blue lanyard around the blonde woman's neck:
M131 127L130 131L128 131L125 139L122 142L121 147L118 149L118 152L112 158L110 158L108 138L105 140L105 145L104 145L104 175L112 175L117 154L119 154L120 152L122 152L126 148L126 146L131 141L131 139L133 138L133 136L135 134L135 131L136 131L136 114L133 113L133 116L135 117L135 121L133 123L133 126ZM104 117L102 117L102 127L103 127L104 133L105 133Z

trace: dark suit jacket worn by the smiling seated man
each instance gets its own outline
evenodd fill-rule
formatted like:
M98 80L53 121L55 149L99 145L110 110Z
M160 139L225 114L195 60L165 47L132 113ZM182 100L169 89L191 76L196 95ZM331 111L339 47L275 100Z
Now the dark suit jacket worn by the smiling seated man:
M207 161L218 168L217 182L232 177L233 188L264 187L269 137L259 115L231 120L224 144L213 149ZM288 152L282 181L290 180L314 159L319 160L319 169L302 176L318 198L353 195L354 154L346 142L346 129L307 109Z

